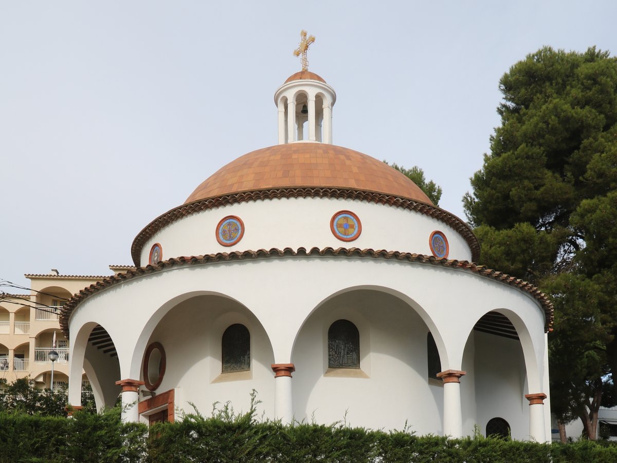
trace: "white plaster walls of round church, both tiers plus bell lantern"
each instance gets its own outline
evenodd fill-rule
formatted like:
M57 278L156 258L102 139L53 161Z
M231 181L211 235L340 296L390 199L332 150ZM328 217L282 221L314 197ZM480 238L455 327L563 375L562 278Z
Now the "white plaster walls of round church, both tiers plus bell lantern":
M280 142L289 141L281 138L281 128L289 127L284 111L281 123L286 91L304 91L310 102L313 87L323 85L292 81L277 91ZM323 96L323 106L331 108L334 91ZM309 118L315 114L310 108ZM170 398L186 411L191 402L207 413L217 401L246 411L256 390L259 412L284 422L346 420L386 429L407 423L420 434L462 436L475 425L483 432L500 417L513 438L549 439L550 404L542 401L549 395L545 298L469 264L473 239L460 232L464 224L432 205L413 209L402 206L411 199L302 191L249 200L230 200L236 194L230 191L212 206L188 211L196 201L146 227L146 237L134 244L140 268L76 295L65 307L70 403L80 404L81 383L73 377L83 368L98 406L112 405L121 391L123 402L139 401L125 413L130 420L147 422L171 407ZM352 242L331 230L341 210L362 221ZM231 246L216 238L226 216L241 218L244 226ZM434 231L447 236L449 260L431 256ZM146 264L154 244L162 247L163 260ZM515 335L482 329L489 313L505 316ZM359 368L329 367L328 329L340 319L358 329ZM222 372L222 336L233 324L246 326L251 336L248 371ZM113 343L113 355L93 346L93 329ZM428 374L429 332L442 379ZM155 342L164 348L165 372L154 398L146 398L139 383L144 354Z

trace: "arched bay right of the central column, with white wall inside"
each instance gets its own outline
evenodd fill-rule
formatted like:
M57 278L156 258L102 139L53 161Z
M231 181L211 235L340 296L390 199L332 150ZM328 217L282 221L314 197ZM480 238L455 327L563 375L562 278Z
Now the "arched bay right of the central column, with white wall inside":
M302 375L302 381L292 380L294 417L389 429L407 422L418 433L441 429L443 386L428 376L429 327L419 312L434 323L416 307L407 295L374 285L342 289L321 301L292 350L292 363ZM329 327L341 319L359 332L358 368L329 366ZM434 337L443 348L436 329ZM376 394L378 401L366 401ZM381 414L383 409L389 412Z

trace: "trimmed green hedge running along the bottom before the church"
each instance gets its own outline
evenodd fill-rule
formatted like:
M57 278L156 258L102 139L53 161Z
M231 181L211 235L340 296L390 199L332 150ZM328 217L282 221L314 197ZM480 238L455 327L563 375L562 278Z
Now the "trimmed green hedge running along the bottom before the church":
M617 446L446 439L342 425L258 422L252 413L123 424L119 409L73 419L0 413L0 462L615 462Z

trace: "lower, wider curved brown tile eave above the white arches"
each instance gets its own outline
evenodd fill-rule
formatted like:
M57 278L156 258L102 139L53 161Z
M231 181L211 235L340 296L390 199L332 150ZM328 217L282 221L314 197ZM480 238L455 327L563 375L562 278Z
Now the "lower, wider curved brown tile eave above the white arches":
M373 249L363 249L360 248L331 248L326 247L323 249L313 247L309 251L305 248L298 248L297 250L292 250L291 248L284 248L283 250L278 248L272 248L270 250L260 249L257 251L247 250L244 252L230 252L230 253L216 253L209 255L200 255L200 256L180 256L178 258L171 258L166 261L160 261L155 265L146 265L144 267L136 268L135 270L127 271L122 274L115 274L114 276L106 277L102 281L97 281L96 284L89 285L83 290L80 290L79 293L73 295L73 297L64 305L62 308L62 313L60 314L60 328L64 335L69 338L69 330L68 330L68 319L70 318L73 310L77 308L77 306L86 298L90 297L94 293L97 293L101 290L106 289L112 285L118 284L126 279L130 279L133 277L145 276L147 274L151 274L153 272L164 271L164 269L173 268L174 266L181 265L195 265L195 264L210 264L210 263L219 263L219 262L228 262L228 261L241 261L244 259L255 259L255 258L276 258L276 257L332 257L332 256L341 256L341 257L351 257L351 258L383 258L387 260L397 260L408 263L428 263L441 265L444 268L452 268L452 269L460 269L465 271L471 271L478 276L488 277L494 279L495 281L502 282L503 284L507 284L513 287L516 287L524 292L529 293L532 298L536 299L541 308L544 310L544 332L552 331L553 325L553 305L550 302L549 298L542 292L540 292L537 287L533 286L531 283L523 281L521 279L512 277L508 274L495 271L493 269L486 268L486 266L478 265L469 261L458 261L458 260L447 260L447 259L437 259L434 256L427 256L422 254L415 253L402 253L396 251L386 251L386 250L373 250Z

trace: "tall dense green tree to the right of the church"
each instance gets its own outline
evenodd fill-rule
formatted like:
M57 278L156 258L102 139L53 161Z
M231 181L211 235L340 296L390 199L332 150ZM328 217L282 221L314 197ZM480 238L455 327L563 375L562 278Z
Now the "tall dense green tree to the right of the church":
M501 125L465 213L482 263L552 296L552 408L594 438L617 371L617 59L544 47L500 90Z

